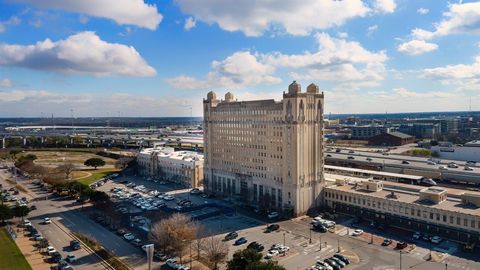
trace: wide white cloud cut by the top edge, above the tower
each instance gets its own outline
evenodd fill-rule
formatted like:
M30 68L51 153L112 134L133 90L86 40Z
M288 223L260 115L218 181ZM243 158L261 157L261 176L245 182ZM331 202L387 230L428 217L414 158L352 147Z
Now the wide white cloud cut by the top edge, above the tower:
M176 0L176 2L184 13L192 15L196 20L208 24L216 23L223 30L241 31L247 36L260 36L265 31L278 28L292 35L307 35L314 30L342 25L349 19L364 17L371 12L361 0Z

